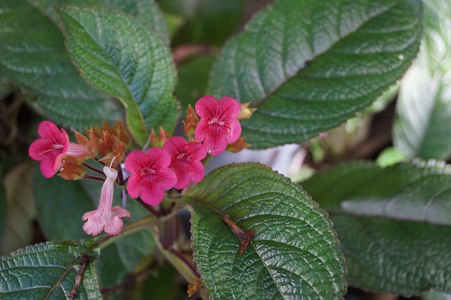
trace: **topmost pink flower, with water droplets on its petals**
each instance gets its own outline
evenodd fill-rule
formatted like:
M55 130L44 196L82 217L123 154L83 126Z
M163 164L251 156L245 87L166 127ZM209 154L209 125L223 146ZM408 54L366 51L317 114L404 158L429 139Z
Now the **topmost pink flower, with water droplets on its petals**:
M240 138L241 125L237 116L241 107L237 100L223 97L217 101L213 96L204 96L197 101L195 109L201 119L194 136L199 142L204 142L211 155L221 154L227 143Z

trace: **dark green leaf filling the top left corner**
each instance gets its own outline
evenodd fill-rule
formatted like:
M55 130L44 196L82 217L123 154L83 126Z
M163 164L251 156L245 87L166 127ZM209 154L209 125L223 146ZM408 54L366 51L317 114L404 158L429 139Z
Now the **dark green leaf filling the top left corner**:
M116 105L80 77L63 35L36 8L4 0L0 19L0 74L29 91L38 112L79 131L120 118Z

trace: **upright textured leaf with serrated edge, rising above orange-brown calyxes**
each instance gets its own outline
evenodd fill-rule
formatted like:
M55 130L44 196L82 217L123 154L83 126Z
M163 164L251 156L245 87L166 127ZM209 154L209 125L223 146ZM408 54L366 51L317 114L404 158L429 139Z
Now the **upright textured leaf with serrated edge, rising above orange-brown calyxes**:
M67 46L82 76L123 102L127 125L144 144L151 128L171 131L178 119L175 68L159 35L123 13L60 8Z

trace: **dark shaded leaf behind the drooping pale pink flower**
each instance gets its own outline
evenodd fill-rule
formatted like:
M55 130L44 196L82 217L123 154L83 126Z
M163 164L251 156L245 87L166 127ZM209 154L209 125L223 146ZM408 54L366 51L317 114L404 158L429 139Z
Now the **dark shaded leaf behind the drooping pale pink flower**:
M39 224L47 239L87 239L82 225L82 215L94 210L99 202L101 182L66 181L61 178L47 179L36 170L34 191ZM114 191L113 205L122 205L119 188ZM129 199L126 209L132 215L124 219L129 224L147 215L147 210L133 199ZM96 269L102 287L121 284L141 260L154 250L154 239L150 228L125 236L101 251Z

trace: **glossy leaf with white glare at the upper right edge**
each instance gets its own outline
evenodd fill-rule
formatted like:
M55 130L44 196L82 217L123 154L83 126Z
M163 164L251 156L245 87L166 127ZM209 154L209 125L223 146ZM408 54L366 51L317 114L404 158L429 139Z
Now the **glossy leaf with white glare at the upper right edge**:
M424 38L402 80L393 138L409 157L446 160L451 156L451 3L424 4Z

